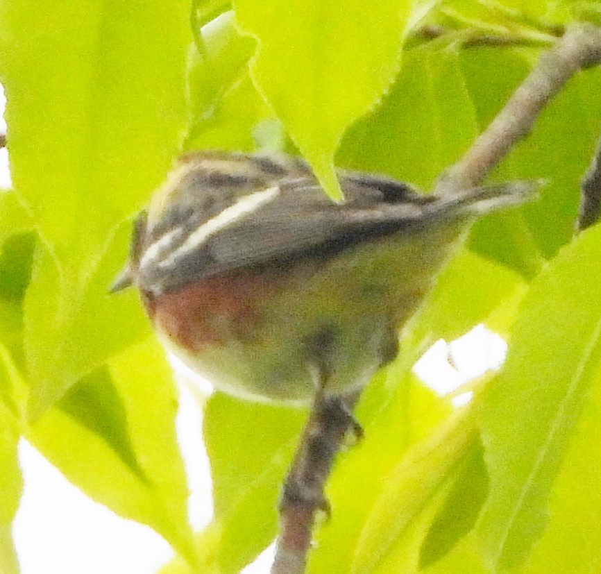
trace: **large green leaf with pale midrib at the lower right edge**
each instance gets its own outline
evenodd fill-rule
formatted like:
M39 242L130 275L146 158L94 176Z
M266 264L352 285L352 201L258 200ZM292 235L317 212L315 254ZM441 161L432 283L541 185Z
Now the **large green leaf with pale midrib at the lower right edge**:
M583 233L532 283L502 373L479 405L491 493L477 527L493 568L522 563L601 360L601 229Z

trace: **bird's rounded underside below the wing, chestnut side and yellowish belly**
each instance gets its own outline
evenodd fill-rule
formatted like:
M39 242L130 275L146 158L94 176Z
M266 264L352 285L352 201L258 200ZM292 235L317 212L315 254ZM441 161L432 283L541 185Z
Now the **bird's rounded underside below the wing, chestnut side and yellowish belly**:
M396 354L398 329L448 256L424 251L419 237L269 274L211 278L163 294L149 313L164 346L229 394L310 400L322 333L331 339L326 389L356 389Z

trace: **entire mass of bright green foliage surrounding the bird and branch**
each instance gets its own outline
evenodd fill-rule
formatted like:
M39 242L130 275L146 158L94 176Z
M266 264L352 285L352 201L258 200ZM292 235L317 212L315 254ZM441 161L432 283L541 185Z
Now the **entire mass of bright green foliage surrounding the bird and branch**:
M598 3L0 0L0 573L18 572L20 437L167 539L165 574L235 574L276 535L306 412L208 400L215 513L193 537L171 371L136 294L108 294L180 151L301 153L336 197L334 159L428 192L575 17ZM513 44L466 44L482 35ZM573 78L491 175L548 183L472 228L364 392L311 574L601 570L601 234L572 237L600 93L600 70ZM509 355L457 412L411 367L478 323Z

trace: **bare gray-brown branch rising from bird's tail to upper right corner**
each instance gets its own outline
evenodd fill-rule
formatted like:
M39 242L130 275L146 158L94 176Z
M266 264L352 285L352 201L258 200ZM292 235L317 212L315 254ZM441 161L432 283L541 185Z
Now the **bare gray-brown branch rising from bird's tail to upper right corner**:
M514 145L525 137L545 105L579 69L601 62L601 29L578 24L543 53L499 115L477 138L462 160L437 183L437 193L454 193L480 183Z

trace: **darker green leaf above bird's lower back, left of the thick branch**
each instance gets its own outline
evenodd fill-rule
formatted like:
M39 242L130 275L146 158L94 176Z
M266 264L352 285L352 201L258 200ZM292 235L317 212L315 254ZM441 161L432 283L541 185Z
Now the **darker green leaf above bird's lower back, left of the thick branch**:
M382 104L344 136L337 161L428 189L477 134L457 47L432 42L403 54Z

